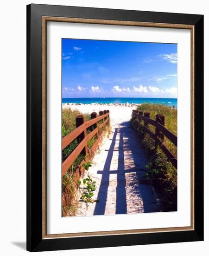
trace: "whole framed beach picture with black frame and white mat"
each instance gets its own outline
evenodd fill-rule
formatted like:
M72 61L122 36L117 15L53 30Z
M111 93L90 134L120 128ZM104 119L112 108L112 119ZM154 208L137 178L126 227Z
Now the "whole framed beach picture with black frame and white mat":
M203 15L27 6L27 250L203 240Z

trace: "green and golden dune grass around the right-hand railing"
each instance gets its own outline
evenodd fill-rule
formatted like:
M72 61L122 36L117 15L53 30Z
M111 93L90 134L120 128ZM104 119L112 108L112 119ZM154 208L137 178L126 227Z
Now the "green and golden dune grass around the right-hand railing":
M169 129L173 134L177 135L177 109L170 108L160 104L141 104L138 111L150 112L150 118L155 120L157 114L165 115L165 128ZM134 122L134 118L132 119ZM141 121L144 125L144 122ZM148 125L152 132L155 127ZM177 210L177 169L168 161L163 151L155 148L155 141L150 135L145 134L140 127L139 135L141 144L147 149L150 155L150 162L147 165L146 178L150 180L160 197L163 211ZM164 137L165 146L177 157L177 147L173 145L166 137Z

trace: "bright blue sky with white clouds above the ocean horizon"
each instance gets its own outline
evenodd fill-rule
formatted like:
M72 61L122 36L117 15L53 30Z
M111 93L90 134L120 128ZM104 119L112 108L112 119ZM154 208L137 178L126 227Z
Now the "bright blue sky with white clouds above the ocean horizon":
M63 98L177 98L177 45L62 39Z

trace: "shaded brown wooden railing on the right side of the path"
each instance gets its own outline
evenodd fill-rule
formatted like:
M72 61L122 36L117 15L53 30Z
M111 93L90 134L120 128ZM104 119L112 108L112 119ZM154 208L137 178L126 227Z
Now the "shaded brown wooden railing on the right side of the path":
M164 136L166 136L177 147L177 136L165 128L165 116L158 114L156 115L156 119L153 120L150 118L149 112L144 112L143 116L142 111L133 110L133 117L136 118L135 121L138 122L138 125L143 129L143 131L155 140L155 147L158 145L163 150L171 164L177 169L177 158L164 144ZM144 125L141 124L141 120L144 121ZM148 124L155 127L155 133L148 128Z

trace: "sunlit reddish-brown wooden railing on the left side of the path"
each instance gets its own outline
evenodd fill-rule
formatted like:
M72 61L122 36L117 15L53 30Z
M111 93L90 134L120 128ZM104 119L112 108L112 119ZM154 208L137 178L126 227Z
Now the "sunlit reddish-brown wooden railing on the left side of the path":
M102 123L98 125L98 122L102 120ZM97 135L97 140L92 146L92 150L94 151L98 146L99 142L99 128L103 128L105 124L109 121L109 110L104 110L99 112L99 116L97 116L96 112L91 113L91 120L86 121L84 115L76 116L76 129L72 131L70 134L66 135L62 139L62 150L70 145L71 142L77 139L77 147L70 153L70 155L64 160L62 164L62 175L66 173L66 171L70 168L73 162L76 160L78 155L82 154L88 155L87 143L90 141L95 135ZM87 129L92 127L93 130L87 135Z

